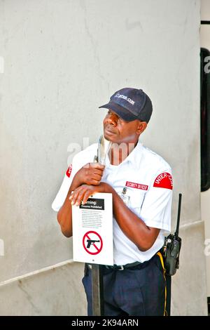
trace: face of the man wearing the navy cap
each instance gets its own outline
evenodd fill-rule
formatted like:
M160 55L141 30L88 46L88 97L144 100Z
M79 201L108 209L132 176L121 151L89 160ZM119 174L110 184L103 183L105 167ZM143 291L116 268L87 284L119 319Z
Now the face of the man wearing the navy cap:
M109 110L104 118L104 138L112 143L137 143L139 135L145 130L146 122L125 121L116 112Z

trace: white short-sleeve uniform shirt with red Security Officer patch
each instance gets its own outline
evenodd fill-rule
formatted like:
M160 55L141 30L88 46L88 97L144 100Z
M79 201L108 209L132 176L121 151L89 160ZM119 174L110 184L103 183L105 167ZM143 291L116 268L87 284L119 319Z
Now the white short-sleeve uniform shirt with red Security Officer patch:
M59 211L66 199L73 176L82 166L94 161L95 155L97 155L97 143L76 154L52 202L52 209ZM134 150L118 166L111 165L109 157L106 157L102 181L111 185L119 195L125 188L126 195L130 197L128 207L131 211L149 227L160 229L151 249L140 251L137 245L123 233L113 217L114 263L125 265L135 261L143 263L151 259L163 246L165 233L171 230L173 183L169 164L139 141Z

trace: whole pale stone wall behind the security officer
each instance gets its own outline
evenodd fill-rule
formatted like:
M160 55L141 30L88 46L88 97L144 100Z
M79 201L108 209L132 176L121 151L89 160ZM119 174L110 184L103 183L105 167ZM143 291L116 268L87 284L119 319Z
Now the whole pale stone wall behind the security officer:
M1 315L85 313L80 266L3 283L71 259L71 239L50 209L67 147L97 140L104 117L97 107L124 86L143 88L153 100L143 141L172 166L173 225L183 192L181 225L189 229L173 313L207 313L203 227L190 225L201 220L199 29L199 0L0 1Z

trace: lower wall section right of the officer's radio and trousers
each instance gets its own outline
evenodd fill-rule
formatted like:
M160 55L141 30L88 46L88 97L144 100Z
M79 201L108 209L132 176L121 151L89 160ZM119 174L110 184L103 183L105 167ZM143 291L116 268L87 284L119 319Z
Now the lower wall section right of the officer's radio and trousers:
M180 268L172 277L172 315L207 315L204 223L183 226Z

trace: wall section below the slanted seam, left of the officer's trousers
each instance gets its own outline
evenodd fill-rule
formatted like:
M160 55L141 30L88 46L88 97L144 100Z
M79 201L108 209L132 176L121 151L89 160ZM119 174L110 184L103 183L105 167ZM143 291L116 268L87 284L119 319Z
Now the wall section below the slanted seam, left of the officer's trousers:
M83 263L0 284L0 315L87 315Z

